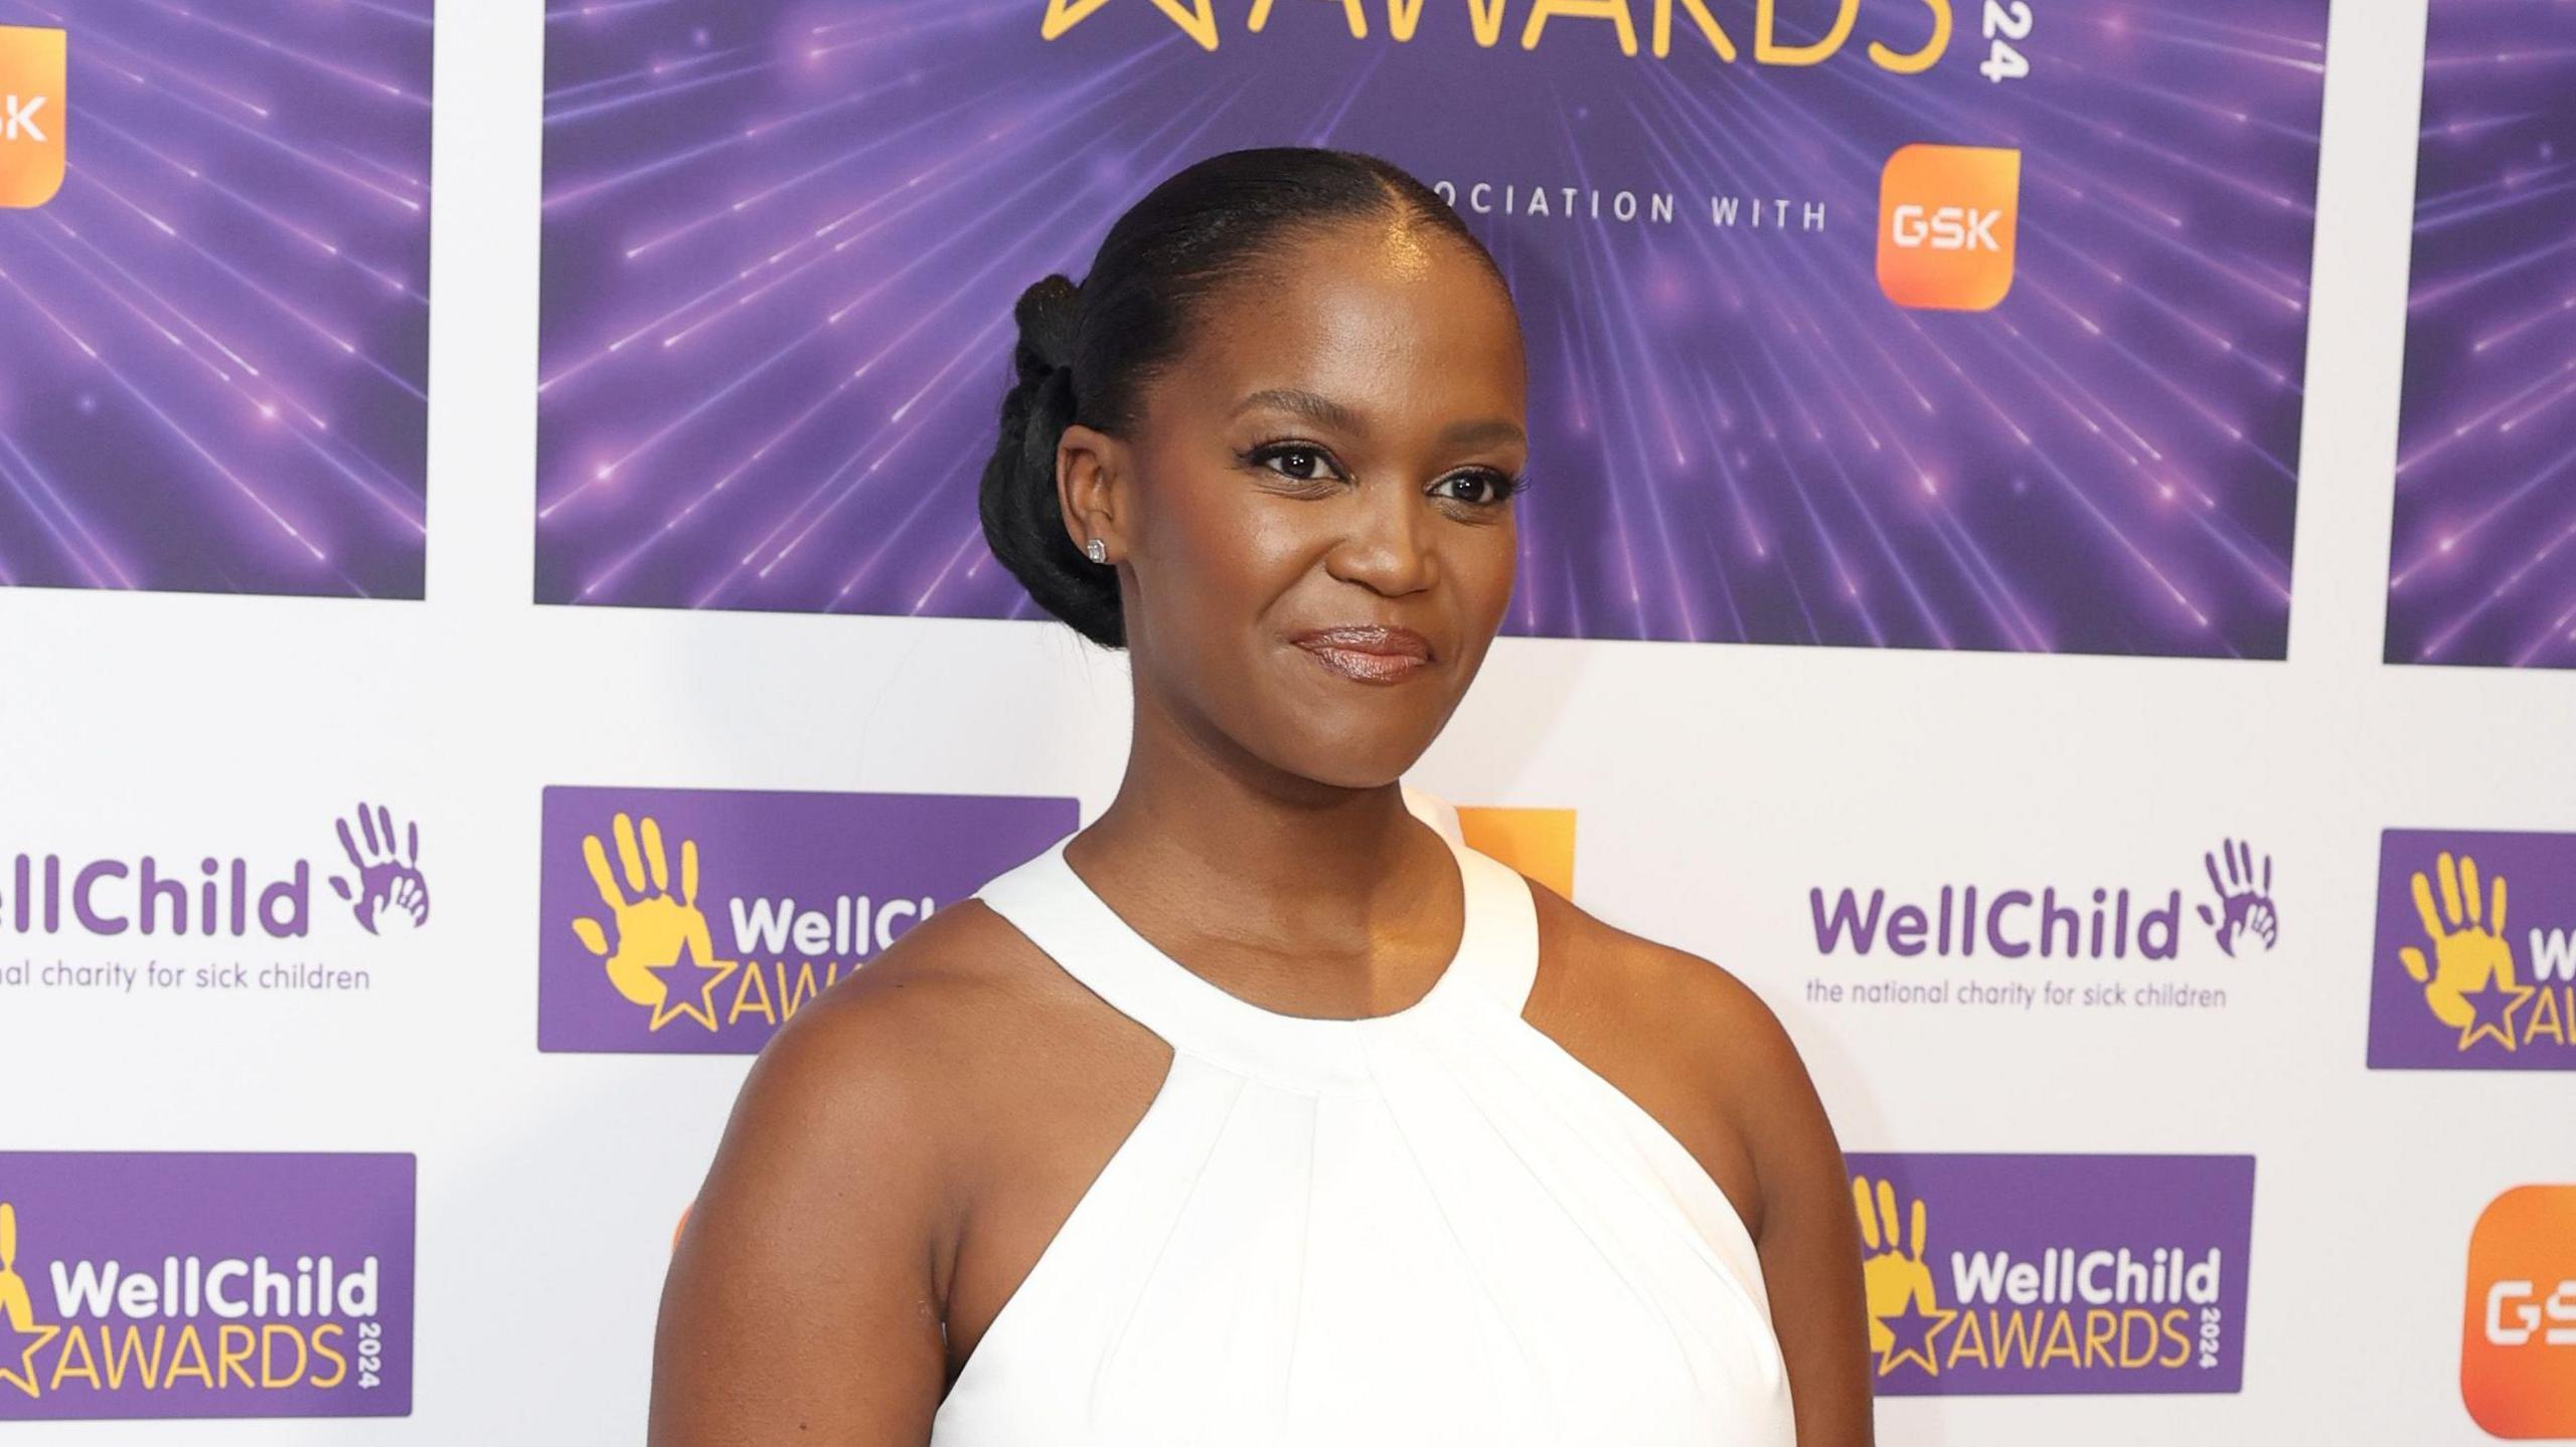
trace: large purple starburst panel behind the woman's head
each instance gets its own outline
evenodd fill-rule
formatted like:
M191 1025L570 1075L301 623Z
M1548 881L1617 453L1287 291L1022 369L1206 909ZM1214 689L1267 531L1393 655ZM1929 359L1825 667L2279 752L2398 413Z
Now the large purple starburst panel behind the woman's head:
M1525 49L1525 0L1492 49L1466 5L1358 10L1226 0L1208 51L1149 0L1056 41L1046 0L556 3L538 600L1033 615L974 499L1012 299L1190 160L1334 144L1512 278L1507 631L2282 657L2326 0L2030 0L2004 82L1965 3L1924 75L1870 62L1924 0L1808 67L1757 64L1749 0L1710 5L1736 62L1687 8L1664 57L1651 5L1633 57L1569 15ZM1785 0L1777 41L1834 15ZM1914 142L2025 152L1991 312L1878 288Z

